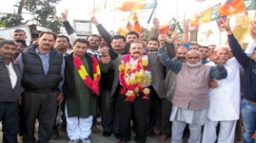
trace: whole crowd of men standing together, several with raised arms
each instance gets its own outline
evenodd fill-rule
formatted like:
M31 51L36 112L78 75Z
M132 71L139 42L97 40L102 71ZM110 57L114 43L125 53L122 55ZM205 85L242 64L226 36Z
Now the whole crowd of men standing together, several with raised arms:
M118 143L129 142L131 130L137 143L148 135L182 143L188 133L189 143L234 143L239 120L243 142L254 142L256 21L244 52L229 19L220 19L228 45L201 46L189 42L186 24L181 39L160 34L156 18L148 40L136 31L111 35L96 17L100 36L77 37L67 14L68 36L43 31L27 44L17 29L0 42L3 143L17 143L17 135L36 142L36 120L38 143L58 140L60 126L70 143L90 143L98 117L102 135Z

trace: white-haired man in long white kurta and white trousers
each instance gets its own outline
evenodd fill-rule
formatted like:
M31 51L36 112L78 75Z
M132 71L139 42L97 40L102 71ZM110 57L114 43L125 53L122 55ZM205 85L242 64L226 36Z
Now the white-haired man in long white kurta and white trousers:
M236 120L240 116L240 65L236 58L229 60L230 48L228 46L218 46L215 49L215 54L219 58L227 60L224 67L228 76L218 81L217 88L209 90L210 106L202 143L214 143L216 141L218 123L220 123L218 143L232 143L235 141ZM214 64L212 63L211 66Z

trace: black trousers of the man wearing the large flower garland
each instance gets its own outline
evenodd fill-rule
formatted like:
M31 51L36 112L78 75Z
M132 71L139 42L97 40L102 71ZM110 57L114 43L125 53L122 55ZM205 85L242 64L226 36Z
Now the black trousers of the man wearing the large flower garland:
M120 140L128 141L131 138L131 116L134 114L137 128L135 140L145 142L148 131L148 114L151 100L137 97L133 102L125 101L125 95L119 94L119 131Z

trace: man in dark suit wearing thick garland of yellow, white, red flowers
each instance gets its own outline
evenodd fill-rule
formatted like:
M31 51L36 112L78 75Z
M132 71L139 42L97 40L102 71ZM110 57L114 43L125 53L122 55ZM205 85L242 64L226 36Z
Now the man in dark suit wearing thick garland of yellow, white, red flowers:
M157 60L157 53L144 54L141 42L131 43L130 53L119 55L113 60L115 74L111 94L119 93L119 143L125 143L131 138L132 112L137 122L135 140L146 142L150 93L164 95L166 92L161 74L163 66Z

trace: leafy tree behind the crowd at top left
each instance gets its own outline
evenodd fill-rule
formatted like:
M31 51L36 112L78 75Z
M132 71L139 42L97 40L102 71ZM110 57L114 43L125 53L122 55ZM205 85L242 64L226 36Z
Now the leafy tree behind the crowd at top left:
M60 33L61 19L56 16L55 6L61 0L18 0L15 4L16 14L6 14L0 18L0 25L10 27L26 24L28 21L35 21L38 26L50 28L55 33ZM22 18L22 11L26 9L33 15L32 20Z

